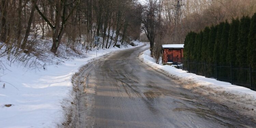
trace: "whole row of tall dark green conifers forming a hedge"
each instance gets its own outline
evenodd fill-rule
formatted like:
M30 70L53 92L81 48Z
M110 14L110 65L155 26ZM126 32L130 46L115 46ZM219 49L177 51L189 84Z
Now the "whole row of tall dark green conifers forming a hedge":
M185 59L256 68L256 13L189 32L184 44Z

